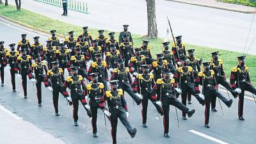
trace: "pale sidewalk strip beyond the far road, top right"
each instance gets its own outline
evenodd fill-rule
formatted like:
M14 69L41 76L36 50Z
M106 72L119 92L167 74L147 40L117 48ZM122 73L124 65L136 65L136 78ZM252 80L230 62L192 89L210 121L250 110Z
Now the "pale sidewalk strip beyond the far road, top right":
M230 4L230 3L221 3L215 0L166 0L166 1L174 1L177 3L186 3L193 4L196 6L204 6L209 8L216 8L220 10L228 10L233 12L241 12L241 13L255 13L255 8L250 6L243 6L239 4Z

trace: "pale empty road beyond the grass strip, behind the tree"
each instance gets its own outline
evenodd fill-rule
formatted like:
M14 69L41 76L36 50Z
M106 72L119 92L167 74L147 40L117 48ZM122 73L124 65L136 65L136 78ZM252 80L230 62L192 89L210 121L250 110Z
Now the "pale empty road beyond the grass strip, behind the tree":
M10 3L14 4L14 1ZM77 26L86 25L109 31L122 31L122 25L129 24L132 33L147 35L145 0L87 0L86 3L90 14L68 11L68 17L60 16L62 8L33 0L24 1L22 8ZM168 28L166 16L171 21L174 35L182 35L185 43L243 52L253 14L157 0L157 28L162 38L166 36ZM255 38L255 19L253 24L246 51ZM255 47L256 42L248 54L256 54Z

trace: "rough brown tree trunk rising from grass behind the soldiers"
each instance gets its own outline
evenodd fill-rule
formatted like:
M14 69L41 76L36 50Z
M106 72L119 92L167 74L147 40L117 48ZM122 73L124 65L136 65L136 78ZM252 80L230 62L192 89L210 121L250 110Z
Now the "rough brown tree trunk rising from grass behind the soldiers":
M157 38L157 25L156 25L156 3L155 0L147 1L148 13L148 37Z

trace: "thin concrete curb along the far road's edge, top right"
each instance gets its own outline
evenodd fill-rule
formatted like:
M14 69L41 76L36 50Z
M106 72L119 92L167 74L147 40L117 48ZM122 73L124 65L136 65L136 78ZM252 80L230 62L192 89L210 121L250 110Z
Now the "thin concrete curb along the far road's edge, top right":
M221 8L221 7L218 7L218 6L212 6L212 5L200 4L200 3L192 3L192 2L187 2L187 1L179 1L179 0L166 0L166 1L173 1L173 2L176 2L176 3L184 3L184 4L192 4L192 5L195 5L195 6L204 6L204 7L207 7L207 8L216 8L216 9L219 9L219 10L227 10L227 11L239 12L239 13L256 13L255 11L236 10L236 9L233 9L233 8Z

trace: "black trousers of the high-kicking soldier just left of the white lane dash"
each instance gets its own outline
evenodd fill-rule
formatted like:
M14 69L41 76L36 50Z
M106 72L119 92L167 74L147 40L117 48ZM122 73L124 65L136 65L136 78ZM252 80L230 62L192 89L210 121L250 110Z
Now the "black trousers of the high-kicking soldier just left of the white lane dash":
M169 132L169 111L170 105L175 106L176 108L184 111L184 113L188 113L189 109L184 106L178 99L165 97L162 100L163 103L163 111L164 111L164 133Z

